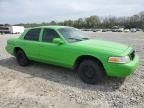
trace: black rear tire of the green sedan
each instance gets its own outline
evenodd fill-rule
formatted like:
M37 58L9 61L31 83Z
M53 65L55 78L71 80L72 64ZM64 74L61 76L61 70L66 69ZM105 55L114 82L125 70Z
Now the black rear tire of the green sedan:
M26 57L25 53L22 50L18 50L16 52L16 59L17 63L20 66L27 66L30 63L30 61L28 60L28 58Z

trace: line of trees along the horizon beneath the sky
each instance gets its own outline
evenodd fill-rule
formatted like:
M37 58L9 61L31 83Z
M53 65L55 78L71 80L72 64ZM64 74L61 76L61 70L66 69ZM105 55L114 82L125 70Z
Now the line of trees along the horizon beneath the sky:
M65 20L63 22L42 22L37 23L27 23L27 24L16 24L19 26L28 27L37 27L37 26L48 26L48 25L62 25L62 26L72 26L79 29L106 29L113 27L122 27L122 28L141 28L144 29L144 12L140 12L136 15L129 17L99 17L99 16L90 16L86 18L79 18L77 20Z

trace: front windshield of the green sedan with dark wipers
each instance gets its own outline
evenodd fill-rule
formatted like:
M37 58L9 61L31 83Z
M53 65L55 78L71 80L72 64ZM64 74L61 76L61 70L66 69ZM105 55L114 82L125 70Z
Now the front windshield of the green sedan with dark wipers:
M83 32L75 28L61 28L58 29L58 31L63 35L63 37L68 42L88 40L88 38Z

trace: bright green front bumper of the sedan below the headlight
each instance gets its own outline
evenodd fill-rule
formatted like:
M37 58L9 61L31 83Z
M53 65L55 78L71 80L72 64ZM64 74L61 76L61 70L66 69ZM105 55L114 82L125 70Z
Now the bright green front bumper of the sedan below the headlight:
M126 64L107 63L104 64L104 68L108 76L114 77L126 77L132 74L139 65L139 57L135 55L135 58Z

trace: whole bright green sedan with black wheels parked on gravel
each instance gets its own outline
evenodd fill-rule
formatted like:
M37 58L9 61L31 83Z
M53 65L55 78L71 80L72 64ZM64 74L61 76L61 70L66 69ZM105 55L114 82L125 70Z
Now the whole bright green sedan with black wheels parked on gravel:
M89 84L99 82L104 76L126 77L139 64L133 48L90 39L78 29L66 26L26 29L19 38L7 41L6 50L20 66L37 61L70 68Z

